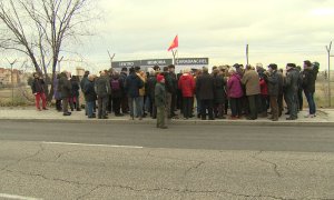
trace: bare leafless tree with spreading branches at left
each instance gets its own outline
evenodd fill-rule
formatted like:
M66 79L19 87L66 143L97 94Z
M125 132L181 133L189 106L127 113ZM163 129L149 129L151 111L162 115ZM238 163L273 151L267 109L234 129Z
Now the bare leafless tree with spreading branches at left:
M0 49L28 56L50 82L63 43L86 36L92 0L0 0ZM51 67L51 69L50 69ZM51 73L52 77L49 77ZM52 99L53 84L48 94Z

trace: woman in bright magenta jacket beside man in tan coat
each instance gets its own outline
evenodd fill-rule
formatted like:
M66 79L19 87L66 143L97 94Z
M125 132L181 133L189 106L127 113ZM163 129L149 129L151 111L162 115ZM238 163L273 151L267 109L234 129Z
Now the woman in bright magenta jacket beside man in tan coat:
M242 117L242 97L244 96L240 82L242 78L234 68L230 68L228 73L227 96L230 103L230 119L236 120Z

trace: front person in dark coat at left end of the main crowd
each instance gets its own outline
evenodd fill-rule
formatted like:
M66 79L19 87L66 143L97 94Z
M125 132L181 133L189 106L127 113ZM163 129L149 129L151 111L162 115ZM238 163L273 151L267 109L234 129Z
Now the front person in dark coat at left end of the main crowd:
M67 71L60 73L60 79L58 83L58 90L61 93L62 99L62 112L63 116L70 116L71 112L68 111L68 102L69 98L71 97L71 82L69 80L70 74Z

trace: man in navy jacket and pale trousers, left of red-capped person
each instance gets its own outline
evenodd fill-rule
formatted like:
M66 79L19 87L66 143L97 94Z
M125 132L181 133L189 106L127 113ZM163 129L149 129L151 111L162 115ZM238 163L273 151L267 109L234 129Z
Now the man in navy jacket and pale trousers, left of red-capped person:
M143 108L140 108L139 102L139 89L144 87L144 82L136 74L136 71L134 68L130 69L130 74L126 79L125 88L128 96L128 104L130 108L130 117L134 120L135 119L135 111L134 111L134 103L136 104L136 111L139 114L139 120L143 119L141 111Z

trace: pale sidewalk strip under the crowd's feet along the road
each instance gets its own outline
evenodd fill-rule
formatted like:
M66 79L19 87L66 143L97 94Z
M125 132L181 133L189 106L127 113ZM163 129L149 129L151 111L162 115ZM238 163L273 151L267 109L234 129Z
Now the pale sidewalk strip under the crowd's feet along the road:
M267 118L258 118L255 121L248 121L246 119L240 120L214 120L214 121L203 121L197 118L189 120L173 119L171 124L234 124L234 126L327 126L334 127L334 109L320 109L317 111L316 118L304 118L306 116L306 110L299 113L299 118L295 121L286 121L287 116L282 116L279 121L273 122ZM40 121L40 122L78 122L78 123L129 123L129 124L155 124L156 120L150 118L144 118L143 121L138 119L132 121L129 116L115 117L109 114L107 120L88 119L85 116L85 111L73 111L70 117L63 117L61 112L57 112L53 108L46 111L37 111L33 107L1 107L0 108L0 120L16 120L16 121Z

